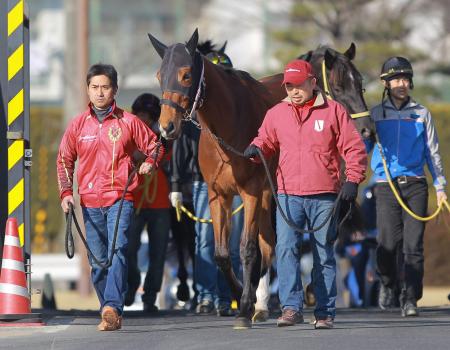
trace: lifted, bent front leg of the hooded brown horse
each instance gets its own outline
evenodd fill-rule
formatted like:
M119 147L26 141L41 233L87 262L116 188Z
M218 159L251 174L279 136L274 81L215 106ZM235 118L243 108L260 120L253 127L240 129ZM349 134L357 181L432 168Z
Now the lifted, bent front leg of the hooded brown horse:
M242 295L242 285L234 274L229 250L232 199L233 197L224 198L212 194L209 208L214 228L214 259L228 281L233 297L239 300Z

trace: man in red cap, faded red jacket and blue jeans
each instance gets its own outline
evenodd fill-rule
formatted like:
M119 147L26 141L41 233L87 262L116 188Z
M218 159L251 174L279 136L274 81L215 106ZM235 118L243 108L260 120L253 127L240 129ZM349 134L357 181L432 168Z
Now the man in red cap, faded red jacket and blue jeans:
M318 227L325 221L341 191L341 199L356 198L364 180L367 155L364 144L346 110L316 91L311 65L303 60L288 63L283 84L288 97L271 108L258 136L245 150L257 161L279 151L278 200L287 217L298 227ZM340 159L346 163L341 188ZM311 236L314 294L317 299L315 328L333 327L336 313L336 261L331 241L334 220ZM277 271L282 316L278 326L303 322L303 287L300 278L302 235L277 211Z

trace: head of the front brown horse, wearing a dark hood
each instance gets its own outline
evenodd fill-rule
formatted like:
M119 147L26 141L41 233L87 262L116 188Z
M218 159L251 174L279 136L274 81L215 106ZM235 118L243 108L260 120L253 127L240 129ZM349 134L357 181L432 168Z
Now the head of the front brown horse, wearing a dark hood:
M171 46L151 34L148 36L162 58L156 74L162 90L159 128L164 138L175 139L180 135L182 120L196 107L196 96L201 95L203 57L197 50L198 31L194 31L187 43Z

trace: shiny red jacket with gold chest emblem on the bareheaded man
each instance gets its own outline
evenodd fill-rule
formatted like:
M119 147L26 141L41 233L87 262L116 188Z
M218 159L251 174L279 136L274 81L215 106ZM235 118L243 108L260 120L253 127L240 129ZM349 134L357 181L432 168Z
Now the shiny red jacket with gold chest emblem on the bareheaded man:
M133 170L132 155L138 149L148 163L155 162L157 137L139 118L115 104L111 114L99 123L91 109L75 117L67 127L56 160L61 199L73 194L73 172L78 159L77 182L81 204L99 208L114 204L121 198ZM158 148L156 164L164 155ZM138 184L133 178L125 199L133 200Z

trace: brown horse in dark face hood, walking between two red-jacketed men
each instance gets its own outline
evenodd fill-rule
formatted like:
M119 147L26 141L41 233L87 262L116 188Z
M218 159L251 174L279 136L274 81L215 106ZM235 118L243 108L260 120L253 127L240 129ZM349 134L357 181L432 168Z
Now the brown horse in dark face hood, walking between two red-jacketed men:
M182 119L189 119L191 110L198 107L197 116L203 129L199 163L208 184L215 259L234 296L240 300L235 326L249 328L259 278L270 266L273 256L271 193L262 167L224 150L213 134L220 135L234 148L244 150L257 135L266 111L278 99L247 73L224 69L205 59L195 50L197 31L187 44L166 47L151 35L150 39L163 59L157 75L163 91L162 135L176 138ZM228 250L231 203L235 194L241 196L245 209L240 249L243 286L233 273Z

